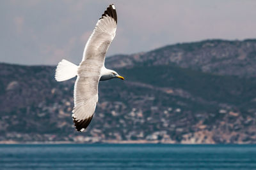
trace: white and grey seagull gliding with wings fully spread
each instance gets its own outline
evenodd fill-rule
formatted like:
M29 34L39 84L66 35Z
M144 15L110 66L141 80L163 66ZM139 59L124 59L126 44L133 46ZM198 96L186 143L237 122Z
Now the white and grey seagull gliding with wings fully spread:
M99 81L110 80L120 76L116 71L104 66L106 52L115 38L117 25L116 8L110 4L99 18L92 35L83 52L79 66L61 60L56 67L56 81L65 81L77 76L74 85L74 109L72 118L76 130L83 132L90 124L97 102Z

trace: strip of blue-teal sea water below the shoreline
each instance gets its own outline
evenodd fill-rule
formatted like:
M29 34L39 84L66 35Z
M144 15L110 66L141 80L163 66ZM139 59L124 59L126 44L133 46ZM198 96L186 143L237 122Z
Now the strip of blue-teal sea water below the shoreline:
M256 145L0 145L0 169L256 169Z

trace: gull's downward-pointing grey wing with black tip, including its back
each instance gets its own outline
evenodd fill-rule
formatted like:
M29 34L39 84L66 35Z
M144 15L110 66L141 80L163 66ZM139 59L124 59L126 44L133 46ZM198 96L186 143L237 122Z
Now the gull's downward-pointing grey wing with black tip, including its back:
M84 131L90 124L98 102L99 66L86 63L79 67L74 87L73 122L77 131Z

